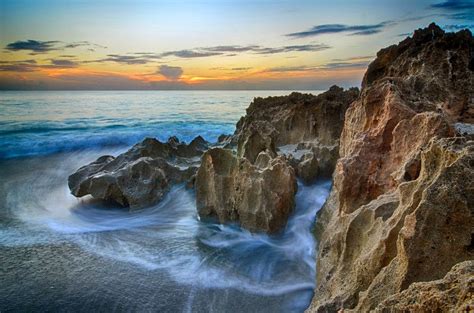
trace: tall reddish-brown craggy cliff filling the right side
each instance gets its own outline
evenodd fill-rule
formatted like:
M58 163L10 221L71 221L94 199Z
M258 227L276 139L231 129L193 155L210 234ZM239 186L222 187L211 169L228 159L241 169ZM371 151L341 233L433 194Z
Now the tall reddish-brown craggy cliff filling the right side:
M473 64L469 31L432 24L369 66L346 112L334 187L317 222L310 311L398 311L416 307L405 297L450 297L439 282L414 283L474 259L474 142L455 127L474 122ZM472 277L472 266L461 272Z

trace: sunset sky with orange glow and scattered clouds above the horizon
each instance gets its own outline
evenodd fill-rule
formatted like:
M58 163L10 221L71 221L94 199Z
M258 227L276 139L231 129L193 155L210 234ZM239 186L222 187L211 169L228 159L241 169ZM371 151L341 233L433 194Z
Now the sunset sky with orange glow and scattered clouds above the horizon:
M0 0L0 89L360 86L378 50L474 0Z

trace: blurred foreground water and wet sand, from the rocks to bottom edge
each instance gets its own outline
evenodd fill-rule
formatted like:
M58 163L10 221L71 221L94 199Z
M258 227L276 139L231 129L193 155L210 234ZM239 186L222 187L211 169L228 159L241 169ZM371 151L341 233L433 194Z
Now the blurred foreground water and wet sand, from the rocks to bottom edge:
M133 213L79 201L66 178L99 154L0 162L0 311L298 312L309 304L310 228L329 182L299 185L286 230L268 236L200 222L183 186Z

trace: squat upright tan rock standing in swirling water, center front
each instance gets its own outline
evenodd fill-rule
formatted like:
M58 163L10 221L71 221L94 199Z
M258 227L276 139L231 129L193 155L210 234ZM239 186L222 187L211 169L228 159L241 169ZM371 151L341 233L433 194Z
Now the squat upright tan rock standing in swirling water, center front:
M277 232L294 207L296 178L283 157L261 152L252 164L222 148L208 150L196 175L202 218L238 222L251 231Z

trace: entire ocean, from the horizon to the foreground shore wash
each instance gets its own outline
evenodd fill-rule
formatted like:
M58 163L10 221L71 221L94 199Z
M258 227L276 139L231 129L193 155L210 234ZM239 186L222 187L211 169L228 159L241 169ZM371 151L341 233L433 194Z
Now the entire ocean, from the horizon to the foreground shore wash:
M330 181L298 185L282 234L199 221L192 190L129 213L67 177L145 137L216 141L256 96L288 91L0 92L0 312L302 312ZM314 91L313 93L318 93Z

